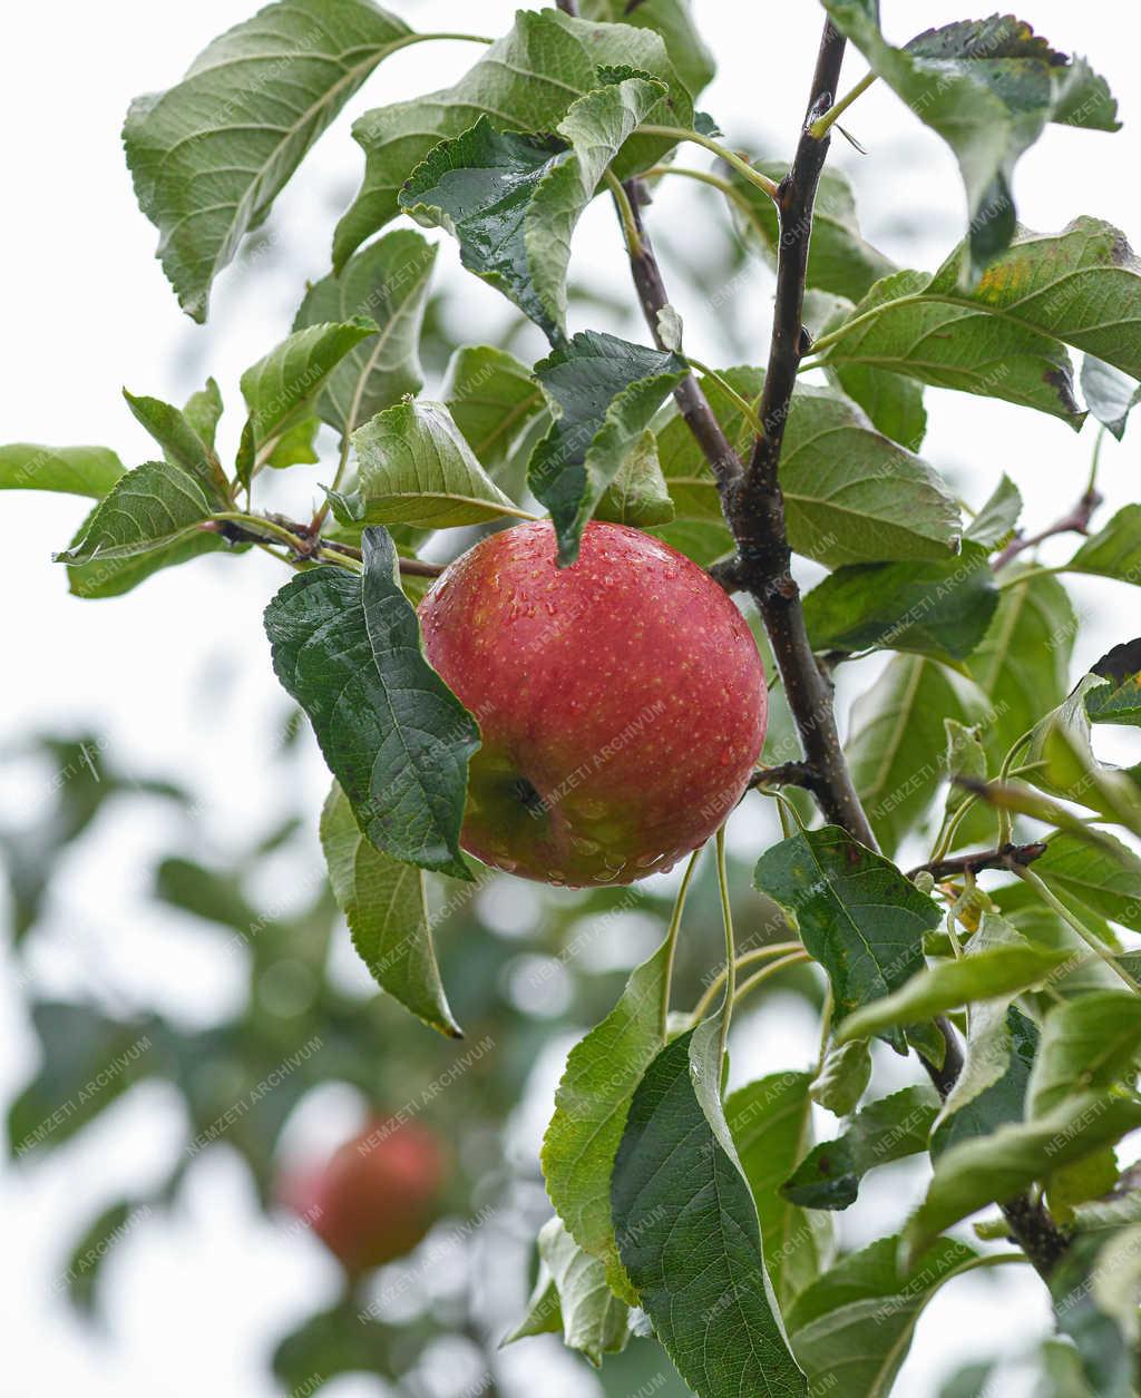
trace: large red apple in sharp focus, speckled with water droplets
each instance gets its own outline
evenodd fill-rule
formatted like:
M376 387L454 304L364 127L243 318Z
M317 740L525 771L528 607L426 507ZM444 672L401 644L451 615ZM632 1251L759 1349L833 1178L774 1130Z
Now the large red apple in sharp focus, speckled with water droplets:
M461 844L547 884L632 884L702 844L745 788L768 692L708 573L622 524L555 566L550 523L482 540L419 604L428 660L482 747Z

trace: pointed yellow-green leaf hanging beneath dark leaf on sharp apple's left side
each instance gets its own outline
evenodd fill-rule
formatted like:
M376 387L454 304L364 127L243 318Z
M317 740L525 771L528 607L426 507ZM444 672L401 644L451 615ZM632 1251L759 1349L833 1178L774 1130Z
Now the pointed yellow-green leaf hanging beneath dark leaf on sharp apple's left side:
M460 1039L432 946L424 871L369 844L336 783L320 836L333 896L376 984L432 1029Z

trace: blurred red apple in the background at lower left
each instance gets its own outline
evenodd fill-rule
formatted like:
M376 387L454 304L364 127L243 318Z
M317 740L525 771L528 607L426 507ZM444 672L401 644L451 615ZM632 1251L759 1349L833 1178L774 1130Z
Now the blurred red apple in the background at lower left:
M287 1179L281 1198L357 1275L419 1243L443 1177L445 1153L432 1131L378 1118L326 1165Z

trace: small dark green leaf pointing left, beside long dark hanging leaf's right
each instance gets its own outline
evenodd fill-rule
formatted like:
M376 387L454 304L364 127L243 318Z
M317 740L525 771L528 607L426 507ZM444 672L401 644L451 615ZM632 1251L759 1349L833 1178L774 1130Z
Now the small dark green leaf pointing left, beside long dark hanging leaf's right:
M804 1208L846 1209L868 1170L927 1149L937 1114L928 1088L905 1088L870 1102L835 1141L821 1141L801 1160L780 1192Z

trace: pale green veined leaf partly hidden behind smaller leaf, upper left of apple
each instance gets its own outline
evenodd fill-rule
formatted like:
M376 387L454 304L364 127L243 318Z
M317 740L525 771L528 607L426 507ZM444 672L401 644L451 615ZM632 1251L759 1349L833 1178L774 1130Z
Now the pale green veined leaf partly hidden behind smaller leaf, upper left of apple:
M419 329L436 246L411 228L397 228L357 253L340 275L323 277L305 294L294 330L368 316L379 334L350 350L316 401L323 422L351 435L406 393L424 386Z

